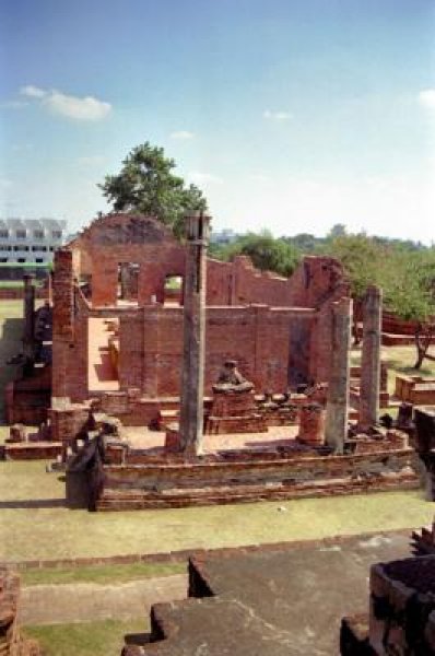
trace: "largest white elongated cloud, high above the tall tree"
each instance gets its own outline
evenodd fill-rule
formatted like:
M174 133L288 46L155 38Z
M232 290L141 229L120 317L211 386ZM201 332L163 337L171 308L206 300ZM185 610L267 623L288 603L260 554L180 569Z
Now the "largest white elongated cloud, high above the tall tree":
M28 84L20 90L22 95L39 101L43 107L52 114L66 116L74 120L97 121L106 118L111 112L110 103L98 101L94 96L73 96L52 89L46 91Z

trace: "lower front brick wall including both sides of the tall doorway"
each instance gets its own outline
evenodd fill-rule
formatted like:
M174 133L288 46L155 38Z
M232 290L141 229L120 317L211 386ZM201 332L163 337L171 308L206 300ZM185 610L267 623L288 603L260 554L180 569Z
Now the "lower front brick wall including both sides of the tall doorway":
M89 398L87 339L92 316L119 318L118 373L121 390L144 396L178 396L183 352L183 308L160 305L129 311L94 311L80 292L73 297L74 320L66 336L54 335L52 396L74 402ZM55 315L56 315L55 306ZM71 313L72 314L72 313ZM259 391L284 391L289 385L326 380L329 373L328 315L304 308L209 307L207 317L205 394L225 359L235 359ZM322 345L324 344L324 348Z

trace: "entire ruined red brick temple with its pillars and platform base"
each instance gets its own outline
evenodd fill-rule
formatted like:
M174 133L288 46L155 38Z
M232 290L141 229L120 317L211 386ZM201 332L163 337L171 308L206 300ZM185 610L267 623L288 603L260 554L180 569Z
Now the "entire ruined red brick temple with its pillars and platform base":
M350 434L352 303L341 266L306 257L284 279L246 257L208 258L202 213L186 225L179 243L155 219L111 214L56 254L49 420L63 453L78 436L83 449L67 464L69 504L415 488L408 435L376 425L378 291L367 292L365 425ZM96 452L97 415L118 421L124 440Z

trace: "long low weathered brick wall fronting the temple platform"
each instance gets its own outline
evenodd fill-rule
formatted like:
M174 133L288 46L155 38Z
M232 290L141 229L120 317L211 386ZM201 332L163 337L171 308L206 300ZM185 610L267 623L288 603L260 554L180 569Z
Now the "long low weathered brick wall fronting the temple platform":
M268 454L235 461L175 458L104 467L97 509L179 507L418 487L413 449L350 456ZM130 459L130 458L129 458Z

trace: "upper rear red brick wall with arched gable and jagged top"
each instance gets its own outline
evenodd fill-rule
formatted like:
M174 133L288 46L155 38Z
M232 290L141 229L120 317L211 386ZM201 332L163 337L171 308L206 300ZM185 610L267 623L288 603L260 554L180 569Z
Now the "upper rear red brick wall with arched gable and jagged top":
M82 274L92 274L94 306L117 302L118 265L139 265L139 305L152 296L164 302L165 279L184 276L185 249L158 221L128 214L111 214L94 221L74 239L81 253ZM233 262L208 260L208 305L264 303L274 307L316 307L340 289L341 265L329 257L305 257L290 278L255 269L249 257ZM339 295L342 295L342 289Z

